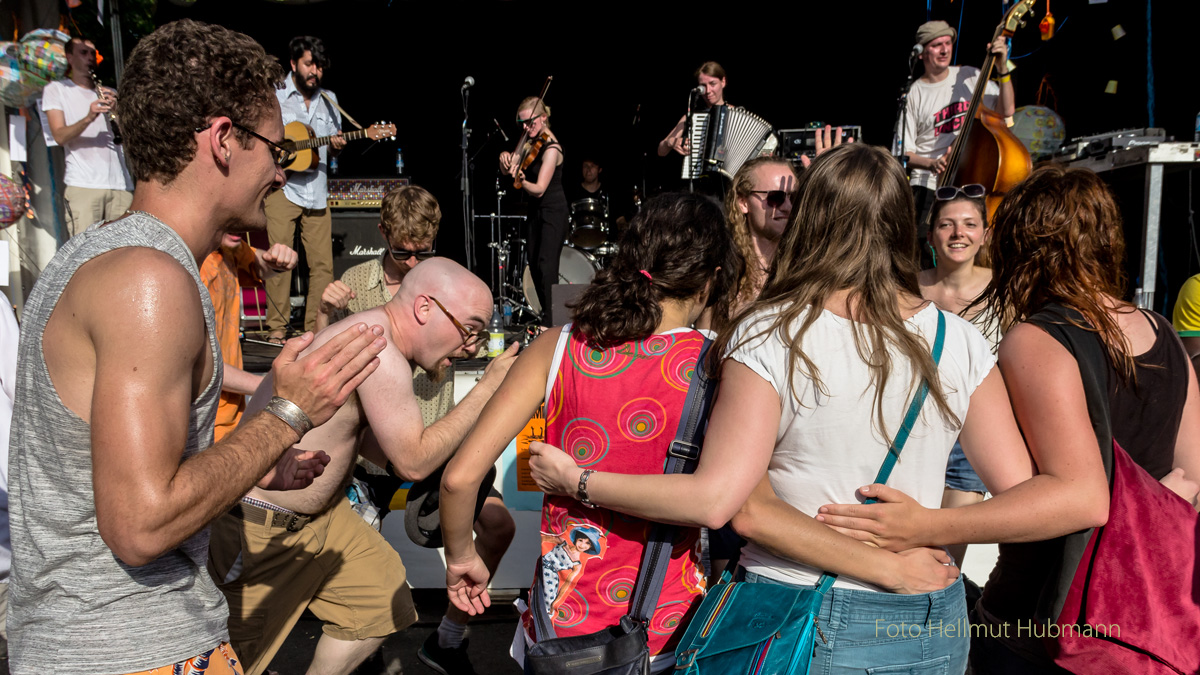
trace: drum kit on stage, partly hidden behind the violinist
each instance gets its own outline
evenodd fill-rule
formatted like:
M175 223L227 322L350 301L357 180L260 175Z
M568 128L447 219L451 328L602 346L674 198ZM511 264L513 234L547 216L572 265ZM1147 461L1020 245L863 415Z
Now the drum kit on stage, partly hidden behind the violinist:
M476 216L493 220L492 249L494 274L492 292L504 307L508 325L536 322L545 307L538 301L528 264L528 241L523 227L500 227L500 219L524 216ZM502 232L503 231L503 232ZM558 283L590 283L617 253L617 232L610 217L607 199L589 197L571 203L570 227L558 256ZM521 276L517 277L517 270Z

